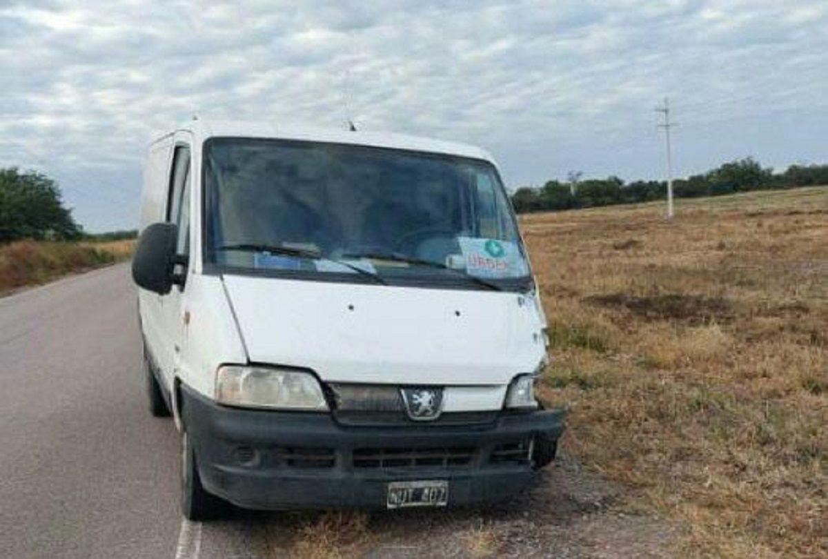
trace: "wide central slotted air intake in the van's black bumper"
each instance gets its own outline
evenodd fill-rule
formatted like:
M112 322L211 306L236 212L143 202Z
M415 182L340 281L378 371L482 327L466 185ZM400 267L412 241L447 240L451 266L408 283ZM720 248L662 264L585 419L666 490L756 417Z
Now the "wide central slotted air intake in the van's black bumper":
M474 446L435 448L358 448L354 468L464 467L474 462Z

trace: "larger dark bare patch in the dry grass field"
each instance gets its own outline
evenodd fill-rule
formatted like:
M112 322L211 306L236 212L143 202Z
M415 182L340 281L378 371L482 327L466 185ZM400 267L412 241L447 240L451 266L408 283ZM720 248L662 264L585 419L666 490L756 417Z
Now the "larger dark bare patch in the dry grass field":
M679 320L700 325L734 319L733 306L721 297L681 294L647 297L614 293L585 297L584 301L609 308L624 308L645 320Z

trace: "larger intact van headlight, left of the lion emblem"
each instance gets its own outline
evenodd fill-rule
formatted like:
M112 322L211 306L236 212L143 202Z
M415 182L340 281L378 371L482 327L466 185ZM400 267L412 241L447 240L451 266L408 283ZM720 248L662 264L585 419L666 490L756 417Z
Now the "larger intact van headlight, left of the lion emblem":
M224 365L215 375L215 398L229 406L327 411L315 376L304 371Z

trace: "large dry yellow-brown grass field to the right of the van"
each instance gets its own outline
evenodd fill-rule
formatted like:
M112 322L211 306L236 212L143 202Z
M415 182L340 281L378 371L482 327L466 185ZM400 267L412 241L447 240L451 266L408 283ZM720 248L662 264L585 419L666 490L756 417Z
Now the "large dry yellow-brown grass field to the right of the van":
M828 556L828 188L521 221L566 451L688 556Z

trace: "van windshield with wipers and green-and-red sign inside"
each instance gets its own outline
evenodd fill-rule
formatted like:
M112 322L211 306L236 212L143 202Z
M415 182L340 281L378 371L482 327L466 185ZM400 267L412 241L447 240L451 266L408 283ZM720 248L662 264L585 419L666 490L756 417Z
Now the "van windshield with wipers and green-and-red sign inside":
M205 261L228 272L518 290L529 267L486 161L248 138L205 143Z

